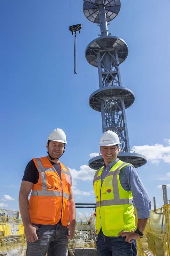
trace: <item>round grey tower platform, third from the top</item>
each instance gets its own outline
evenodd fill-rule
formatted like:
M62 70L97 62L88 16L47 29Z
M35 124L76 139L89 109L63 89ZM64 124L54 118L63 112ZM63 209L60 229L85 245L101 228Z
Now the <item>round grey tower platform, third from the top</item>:
M89 97L89 105L92 109L101 112L102 100L124 99L125 108L129 108L135 101L134 93L122 86L107 86L93 92Z

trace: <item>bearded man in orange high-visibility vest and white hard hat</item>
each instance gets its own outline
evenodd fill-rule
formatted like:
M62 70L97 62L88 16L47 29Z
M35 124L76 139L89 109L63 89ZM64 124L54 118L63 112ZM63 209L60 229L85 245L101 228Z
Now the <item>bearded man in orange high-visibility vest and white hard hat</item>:
M42 256L47 252L65 256L68 238L74 236L72 178L69 168L59 162L66 143L63 130L55 129L48 137L48 156L33 158L26 166L19 192L26 256Z

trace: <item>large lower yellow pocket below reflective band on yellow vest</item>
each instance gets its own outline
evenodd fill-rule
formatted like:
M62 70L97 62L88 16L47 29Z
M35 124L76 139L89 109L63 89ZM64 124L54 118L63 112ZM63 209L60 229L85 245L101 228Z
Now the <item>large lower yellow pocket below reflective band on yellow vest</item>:
M111 205L104 206L104 219L107 230L123 230L124 219L123 219L124 206L123 205Z

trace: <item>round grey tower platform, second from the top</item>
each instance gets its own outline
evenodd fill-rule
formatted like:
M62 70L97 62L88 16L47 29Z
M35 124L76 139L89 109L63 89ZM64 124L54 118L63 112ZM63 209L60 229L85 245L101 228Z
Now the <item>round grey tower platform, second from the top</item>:
M100 36L87 45L85 58L92 66L98 68L97 52L99 51L100 55L102 55L109 51L113 55L111 60L113 66L115 62L115 49L117 50L119 64L121 64L128 56L128 46L125 41L117 36Z

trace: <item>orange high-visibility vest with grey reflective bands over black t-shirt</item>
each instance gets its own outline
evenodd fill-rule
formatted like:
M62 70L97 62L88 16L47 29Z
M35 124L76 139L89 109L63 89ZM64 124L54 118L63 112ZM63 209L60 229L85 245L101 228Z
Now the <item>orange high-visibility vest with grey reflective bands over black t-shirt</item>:
M61 179L47 157L33 158L39 172L38 183L33 184L29 199L32 223L54 225L61 219L67 226L69 220L69 196L72 178L69 168L59 162Z

